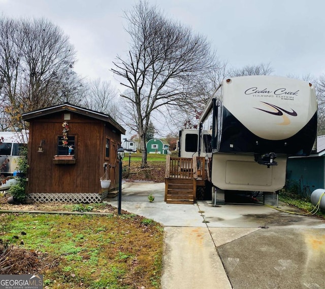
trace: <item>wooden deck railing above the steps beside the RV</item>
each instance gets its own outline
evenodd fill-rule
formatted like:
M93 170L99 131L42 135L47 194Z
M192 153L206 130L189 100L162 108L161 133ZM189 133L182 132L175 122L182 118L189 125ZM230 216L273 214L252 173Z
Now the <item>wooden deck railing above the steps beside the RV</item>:
M177 158L167 155L165 178L205 179L205 158Z

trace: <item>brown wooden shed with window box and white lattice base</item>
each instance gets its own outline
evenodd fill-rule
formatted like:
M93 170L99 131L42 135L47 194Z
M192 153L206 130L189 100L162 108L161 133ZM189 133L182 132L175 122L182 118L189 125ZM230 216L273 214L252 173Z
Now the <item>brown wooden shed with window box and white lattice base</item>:
M125 129L109 115L66 102L22 119L29 122L26 191L32 199L101 202L118 187L117 149ZM102 189L106 169L111 185Z

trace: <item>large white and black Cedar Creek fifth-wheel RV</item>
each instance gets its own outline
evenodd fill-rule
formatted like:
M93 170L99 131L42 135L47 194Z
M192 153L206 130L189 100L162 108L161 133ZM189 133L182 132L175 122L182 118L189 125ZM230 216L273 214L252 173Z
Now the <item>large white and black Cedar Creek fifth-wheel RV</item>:
M308 156L316 139L314 86L245 76L223 80L199 120L180 132L179 157L204 158L215 203L234 191L276 192L289 156Z

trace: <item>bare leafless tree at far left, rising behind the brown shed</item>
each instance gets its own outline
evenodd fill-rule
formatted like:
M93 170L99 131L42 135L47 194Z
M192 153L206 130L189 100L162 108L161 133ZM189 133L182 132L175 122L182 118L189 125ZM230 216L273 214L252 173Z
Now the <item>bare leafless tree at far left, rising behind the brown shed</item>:
M74 61L74 48L58 26L1 16L0 98L8 126L22 127L22 112L61 101L64 87L76 80Z

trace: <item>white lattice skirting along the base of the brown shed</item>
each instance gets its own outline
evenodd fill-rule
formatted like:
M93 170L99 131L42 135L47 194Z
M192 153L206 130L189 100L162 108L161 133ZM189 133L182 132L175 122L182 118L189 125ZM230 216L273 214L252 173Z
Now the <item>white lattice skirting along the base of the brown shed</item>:
M94 193L62 193L62 194L50 194L50 193L32 193L29 197L35 202L49 203L100 203L107 198L108 192L102 194Z

